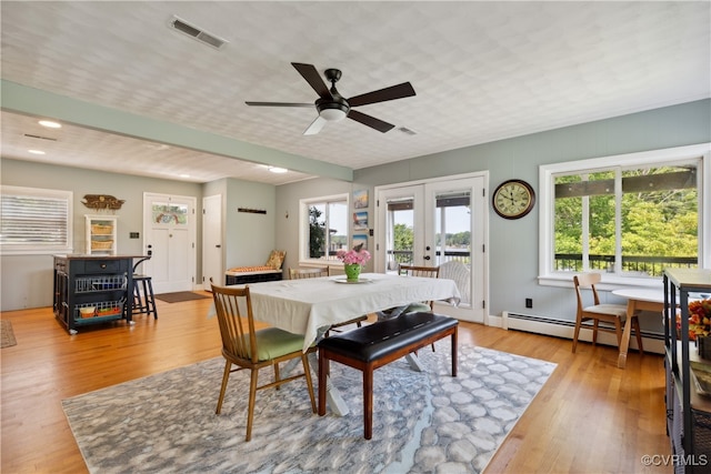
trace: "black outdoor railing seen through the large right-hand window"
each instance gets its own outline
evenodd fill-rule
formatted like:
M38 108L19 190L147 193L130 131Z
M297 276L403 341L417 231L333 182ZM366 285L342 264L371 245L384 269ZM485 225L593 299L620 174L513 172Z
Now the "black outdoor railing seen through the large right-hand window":
M614 255L589 255L590 270L612 272ZM695 269L699 260L695 256L622 256L622 271L661 276L664 269ZM582 254L557 253L554 270L558 272L582 271Z

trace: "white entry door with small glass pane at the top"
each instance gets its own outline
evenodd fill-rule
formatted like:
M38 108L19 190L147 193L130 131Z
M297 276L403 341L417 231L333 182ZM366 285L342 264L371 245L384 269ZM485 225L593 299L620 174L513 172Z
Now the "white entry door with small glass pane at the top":
M156 293L196 285L196 198L143 194L143 263Z

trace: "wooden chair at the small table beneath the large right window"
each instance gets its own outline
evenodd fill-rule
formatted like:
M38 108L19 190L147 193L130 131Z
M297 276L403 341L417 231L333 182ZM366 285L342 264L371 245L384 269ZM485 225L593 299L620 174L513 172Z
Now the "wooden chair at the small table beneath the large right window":
M578 337L581 329L592 330L592 344L598 342L598 331L613 333L618 337L618 347L622 342L622 323L627 317L627 305L624 304L601 304L600 296L595 284L600 283L602 276L600 273L581 273L573 276L573 284L575 286L575 297L578 299L578 313L575 315L575 331L573 333L573 353L578 346ZM591 306L585 306L582 297L582 289L590 289L592 291ZM632 316L632 329L637 335L637 344L640 353L644 353L642 347L642 333L640 331L640 322L637 314ZM592 321L592 324L583 324ZM600 325L600 322L605 325ZM612 326L611 326L612 325Z

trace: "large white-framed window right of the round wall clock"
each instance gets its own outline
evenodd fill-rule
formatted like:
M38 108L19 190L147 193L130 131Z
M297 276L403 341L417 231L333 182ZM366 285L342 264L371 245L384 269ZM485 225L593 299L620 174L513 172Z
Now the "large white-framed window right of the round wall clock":
M665 268L703 266L708 157L684 147L541 167L541 275L658 284Z

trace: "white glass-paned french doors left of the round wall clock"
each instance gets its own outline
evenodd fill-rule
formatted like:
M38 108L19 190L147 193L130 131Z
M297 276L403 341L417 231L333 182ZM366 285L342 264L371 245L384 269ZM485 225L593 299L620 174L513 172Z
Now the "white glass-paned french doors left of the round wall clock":
M488 314L485 179L482 173L375 188L375 271L440 266L440 278L454 280L462 295L459 307L442 312L481 323Z

